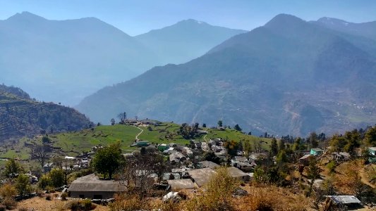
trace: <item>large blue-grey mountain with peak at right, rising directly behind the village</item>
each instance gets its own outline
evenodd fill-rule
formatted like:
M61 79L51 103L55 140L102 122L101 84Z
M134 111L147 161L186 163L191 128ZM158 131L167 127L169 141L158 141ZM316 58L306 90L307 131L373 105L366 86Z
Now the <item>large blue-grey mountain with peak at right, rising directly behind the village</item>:
M359 24L355 33L323 20L277 15L200 58L101 89L77 108L95 122L126 111L162 121L223 120L253 134L332 134L375 124L375 26Z

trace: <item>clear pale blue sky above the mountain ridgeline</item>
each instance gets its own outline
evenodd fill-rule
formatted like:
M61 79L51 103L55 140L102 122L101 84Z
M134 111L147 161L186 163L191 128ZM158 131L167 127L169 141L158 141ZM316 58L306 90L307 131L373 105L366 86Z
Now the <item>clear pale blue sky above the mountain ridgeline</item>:
M279 13L355 23L376 20L375 0L0 0L0 20L29 11L51 20L96 17L136 35L193 18L251 30Z

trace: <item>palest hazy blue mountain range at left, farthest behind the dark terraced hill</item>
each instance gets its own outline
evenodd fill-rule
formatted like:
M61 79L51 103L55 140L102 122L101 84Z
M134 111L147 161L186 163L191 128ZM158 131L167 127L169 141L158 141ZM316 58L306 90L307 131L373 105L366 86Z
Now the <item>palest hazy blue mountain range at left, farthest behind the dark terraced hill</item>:
M0 20L0 82L38 100L76 105L98 89L167 63L183 63L242 33L184 20L131 37L97 18L47 20L23 12Z

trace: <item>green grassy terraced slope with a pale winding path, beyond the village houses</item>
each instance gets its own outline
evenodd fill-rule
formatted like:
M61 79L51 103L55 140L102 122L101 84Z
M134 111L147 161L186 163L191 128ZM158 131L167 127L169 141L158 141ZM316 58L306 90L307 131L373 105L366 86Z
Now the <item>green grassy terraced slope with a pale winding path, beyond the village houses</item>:
M151 126L152 131L149 131L147 127L140 127L143 129L142 134L138 137L140 140L149 141L150 143L178 143L185 145L189 143L189 140L183 139L181 135L178 135L179 124L174 123L162 123L155 127ZM210 139L223 138L235 141L262 141L262 147L268 148L269 139L262 139L255 136L248 136L237 132L234 129L226 129L220 131L217 129L206 129L208 134L205 137L197 137L198 141L209 141ZM132 148L130 145L135 141L135 136L141 132L140 129L134 126L116 124L114 126L99 126L95 129L84 129L79 132L66 132L60 134L50 134L52 146L61 148L61 154L63 155L79 155L83 151L90 151L92 146L101 144L107 146L110 143L116 143L120 141L121 149L126 151L135 151L138 148ZM20 158L21 160L28 160L30 158L30 148L25 147L25 142L35 144L41 143L42 136L37 136L35 139L20 139L18 143L8 146L8 151L1 151L0 158ZM19 153L16 153L19 151Z

